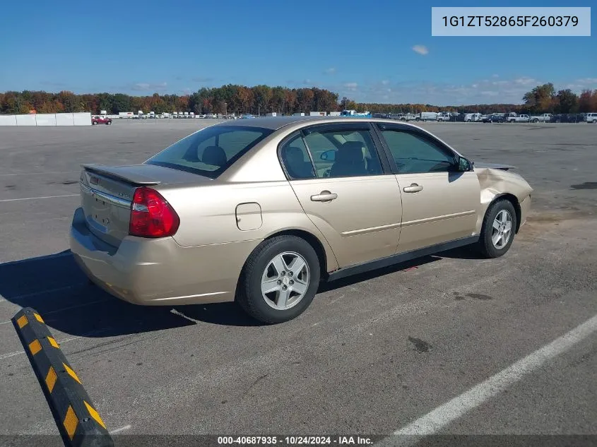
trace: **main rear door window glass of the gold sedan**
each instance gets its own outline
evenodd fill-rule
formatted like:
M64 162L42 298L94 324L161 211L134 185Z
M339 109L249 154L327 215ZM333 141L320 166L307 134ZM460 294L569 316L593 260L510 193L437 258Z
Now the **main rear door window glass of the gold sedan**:
M317 177L358 177L384 171L367 130L326 129L305 131Z

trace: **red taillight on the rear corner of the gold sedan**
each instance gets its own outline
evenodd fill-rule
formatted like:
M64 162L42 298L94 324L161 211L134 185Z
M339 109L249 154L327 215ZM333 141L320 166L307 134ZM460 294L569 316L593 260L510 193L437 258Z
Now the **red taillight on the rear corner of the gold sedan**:
M179 225L180 220L174 208L158 191L146 186L135 190L129 222L131 236L172 236Z

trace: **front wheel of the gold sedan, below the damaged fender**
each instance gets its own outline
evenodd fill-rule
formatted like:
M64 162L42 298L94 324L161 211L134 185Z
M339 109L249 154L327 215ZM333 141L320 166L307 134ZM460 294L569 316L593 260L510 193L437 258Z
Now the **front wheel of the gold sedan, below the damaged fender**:
M478 248L487 258L499 258L506 254L516 233L516 210L512 202L497 200L490 205L483 219Z

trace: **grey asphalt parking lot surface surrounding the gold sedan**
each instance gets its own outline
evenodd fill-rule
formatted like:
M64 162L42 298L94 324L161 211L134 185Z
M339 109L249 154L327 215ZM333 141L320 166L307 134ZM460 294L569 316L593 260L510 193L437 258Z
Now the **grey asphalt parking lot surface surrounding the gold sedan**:
M9 321L23 306L122 436L389 435L455 398L432 432L597 435L597 126L423 125L535 189L502 258L449 251L340 280L277 326L235 304L143 308L88 285L67 251L79 165L143 162L214 122L0 129L0 435L57 433Z

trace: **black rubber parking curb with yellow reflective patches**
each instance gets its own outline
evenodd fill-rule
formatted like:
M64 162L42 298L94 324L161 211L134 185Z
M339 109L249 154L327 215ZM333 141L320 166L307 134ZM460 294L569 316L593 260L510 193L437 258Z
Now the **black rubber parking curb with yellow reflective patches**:
M102 418L40 314L30 307L12 318L65 446L112 447Z

